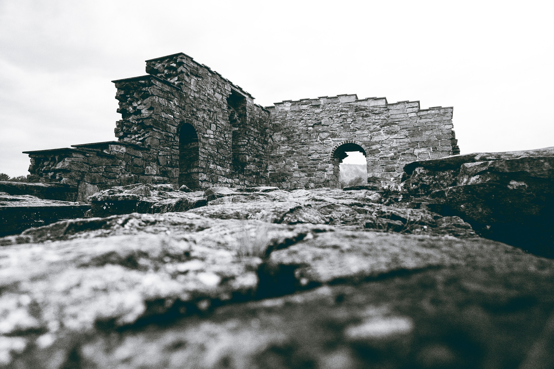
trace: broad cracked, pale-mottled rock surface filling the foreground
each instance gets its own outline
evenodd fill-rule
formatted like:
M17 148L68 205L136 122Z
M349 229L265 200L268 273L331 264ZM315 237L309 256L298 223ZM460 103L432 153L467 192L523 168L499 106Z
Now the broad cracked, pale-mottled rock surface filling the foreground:
M152 190L163 191L138 201ZM0 365L554 362L552 259L387 191L203 195L207 204L187 211L66 220L0 238Z

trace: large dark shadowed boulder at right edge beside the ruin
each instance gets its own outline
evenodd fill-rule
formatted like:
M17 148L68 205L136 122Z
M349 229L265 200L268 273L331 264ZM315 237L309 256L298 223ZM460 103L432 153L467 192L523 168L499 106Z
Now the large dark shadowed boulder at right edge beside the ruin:
M554 147L419 160L404 171L414 207L459 216L481 236L554 257Z

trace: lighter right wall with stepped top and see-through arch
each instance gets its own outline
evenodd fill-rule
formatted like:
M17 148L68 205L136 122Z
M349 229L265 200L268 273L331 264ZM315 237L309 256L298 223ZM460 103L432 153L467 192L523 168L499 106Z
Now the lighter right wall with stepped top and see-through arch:
M452 107L338 95L268 109L269 185L281 188L337 187L338 164L349 150L366 155L368 182L378 185L399 183L406 163L459 153Z

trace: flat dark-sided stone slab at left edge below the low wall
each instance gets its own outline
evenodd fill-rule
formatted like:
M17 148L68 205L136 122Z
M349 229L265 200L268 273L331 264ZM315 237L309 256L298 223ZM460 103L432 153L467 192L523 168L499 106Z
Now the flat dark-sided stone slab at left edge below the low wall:
M0 235L14 235L64 219L82 218L90 205L0 192Z

